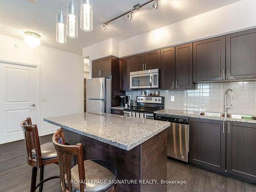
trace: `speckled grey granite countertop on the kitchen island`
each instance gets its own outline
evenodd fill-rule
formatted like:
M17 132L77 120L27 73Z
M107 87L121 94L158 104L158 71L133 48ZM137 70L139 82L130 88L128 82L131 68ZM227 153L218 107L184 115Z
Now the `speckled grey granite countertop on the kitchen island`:
M44 121L126 151L170 126L170 123L165 121L91 113L50 117Z

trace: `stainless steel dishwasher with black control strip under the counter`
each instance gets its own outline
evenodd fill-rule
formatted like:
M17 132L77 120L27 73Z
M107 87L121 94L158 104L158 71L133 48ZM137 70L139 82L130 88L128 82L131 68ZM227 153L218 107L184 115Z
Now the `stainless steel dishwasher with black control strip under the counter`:
M156 114L155 119L171 123L167 128L167 156L188 162L189 118Z

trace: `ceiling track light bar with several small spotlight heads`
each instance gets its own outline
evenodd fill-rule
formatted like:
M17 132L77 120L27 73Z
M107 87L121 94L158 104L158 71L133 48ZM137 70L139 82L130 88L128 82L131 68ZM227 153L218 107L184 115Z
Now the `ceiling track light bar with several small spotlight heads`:
M128 14L127 15L127 17L131 20L132 19L132 17L133 17L133 12L135 11L135 10L139 10L141 7L143 7L144 5L146 5L146 4L148 4L148 3L151 3L151 2L153 2L153 1L155 1L155 3L153 4L153 7L154 8L158 8L158 0L148 0L148 1L146 1L146 2L144 2L143 4L137 4L137 5L135 5L135 6L133 6L133 8L132 9L130 9L129 11L125 11L125 12L123 12L123 13L121 13L120 15L117 15L117 16L115 16L115 17L113 17L113 18L111 18L111 19L109 19L109 20L107 20L106 22L104 22L104 24L103 24L103 29L105 30L106 29L106 24L109 24L110 22L113 22L113 20L116 20L116 19L118 19L119 17L122 17L123 15L126 15L126 14Z

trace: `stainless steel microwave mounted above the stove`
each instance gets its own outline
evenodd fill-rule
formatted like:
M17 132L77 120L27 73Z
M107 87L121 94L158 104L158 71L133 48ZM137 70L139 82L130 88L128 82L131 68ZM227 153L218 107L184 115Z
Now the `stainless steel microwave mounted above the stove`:
M130 89L159 88L159 69L130 73Z

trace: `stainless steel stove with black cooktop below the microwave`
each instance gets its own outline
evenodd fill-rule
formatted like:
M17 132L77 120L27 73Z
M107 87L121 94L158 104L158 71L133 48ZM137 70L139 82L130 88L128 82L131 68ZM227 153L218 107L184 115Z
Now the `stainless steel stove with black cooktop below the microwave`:
M136 106L125 108L123 115L142 119L154 119L154 112L164 109L164 97L136 97Z

